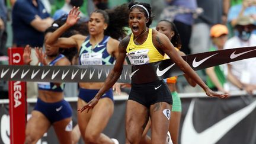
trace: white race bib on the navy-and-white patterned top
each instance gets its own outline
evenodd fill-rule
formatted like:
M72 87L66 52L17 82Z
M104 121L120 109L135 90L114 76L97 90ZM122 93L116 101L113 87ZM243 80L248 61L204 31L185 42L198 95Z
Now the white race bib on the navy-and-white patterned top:
M102 53L82 53L81 65L102 65Z

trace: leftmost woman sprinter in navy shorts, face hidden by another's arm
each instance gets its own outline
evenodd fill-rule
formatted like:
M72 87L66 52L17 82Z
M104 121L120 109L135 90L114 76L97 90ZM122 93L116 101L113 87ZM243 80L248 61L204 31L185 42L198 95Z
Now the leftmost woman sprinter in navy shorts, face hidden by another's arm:
M57 28L49 27L46 30L44 39ZM43 65L71 65L71 62L59 54L59 48L52 49L46 44L46 58L41 49L36 49L39 56L39 62ZM24 63L28 65L31 48L26 46L24 49ZM39 82L39 94L34 110L31 112L31 118L28 120L25 129L25 143L36 143L47 132L52 125L55 129L59 143L72 143L72 108L67 101L63 99L63 88L65 84L56 84L53 82Z

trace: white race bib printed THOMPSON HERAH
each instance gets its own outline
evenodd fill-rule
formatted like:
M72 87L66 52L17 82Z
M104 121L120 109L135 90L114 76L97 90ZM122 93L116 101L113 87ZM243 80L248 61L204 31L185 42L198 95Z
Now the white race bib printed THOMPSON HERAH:
M149 50L143 49L143 50L136 50L130 53L126 53L127 57L130 60L130 63L132 65L143 65L145 63L149 63Z

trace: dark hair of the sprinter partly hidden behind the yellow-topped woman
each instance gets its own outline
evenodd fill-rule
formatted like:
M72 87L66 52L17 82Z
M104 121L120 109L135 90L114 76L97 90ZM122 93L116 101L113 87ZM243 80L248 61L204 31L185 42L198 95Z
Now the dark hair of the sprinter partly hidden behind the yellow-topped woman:
M178 33L178 29L174 23L168 20L161 20L166 23L168 23L171 27L171 30L174 31L174 36L171 39L171 43L174 45L174 47L177 47L177 49L181 49L181 39L180 39L180 33ZM160 23L159 21L158 23Z

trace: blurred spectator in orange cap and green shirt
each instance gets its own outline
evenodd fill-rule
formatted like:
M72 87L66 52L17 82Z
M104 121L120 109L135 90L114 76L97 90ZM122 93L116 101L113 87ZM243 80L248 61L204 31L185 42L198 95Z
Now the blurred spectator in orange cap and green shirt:
M228 40L228 28L222 24L213 25L210 29L210 37L212 39L212 46L209 51L223 50L226 40ZM225 65L213 66L206 69L207 79L206 84L213 91L221 91L228 94L225 90L226 76L224 73Z

